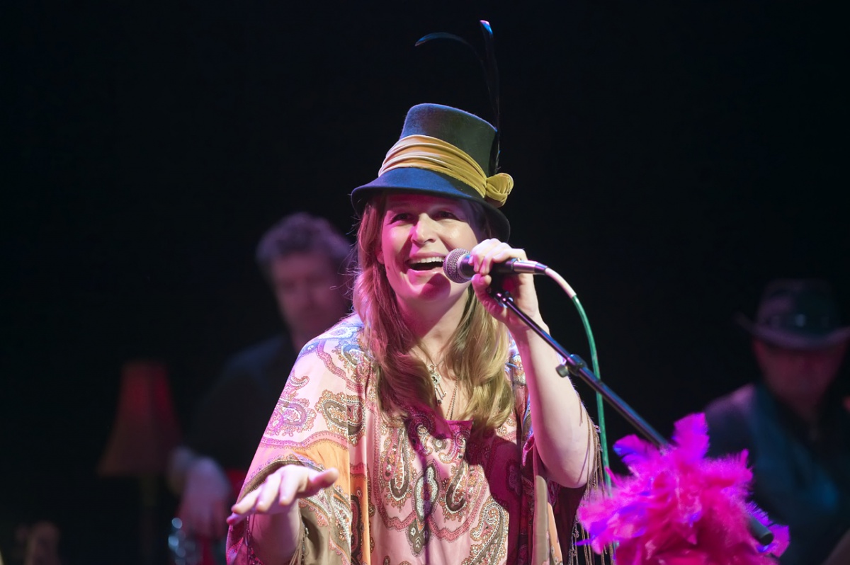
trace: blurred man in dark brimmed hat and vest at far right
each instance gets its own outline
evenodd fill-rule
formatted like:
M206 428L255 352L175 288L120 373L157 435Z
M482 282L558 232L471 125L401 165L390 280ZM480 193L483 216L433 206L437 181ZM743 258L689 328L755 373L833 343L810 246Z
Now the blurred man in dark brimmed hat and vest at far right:
M736 321L762 378L707 406L709 455L747 450L753 500L789 526L780 563L824 563L850 531L850 414L837 391L850 326L824 280L774 280L755 319Z

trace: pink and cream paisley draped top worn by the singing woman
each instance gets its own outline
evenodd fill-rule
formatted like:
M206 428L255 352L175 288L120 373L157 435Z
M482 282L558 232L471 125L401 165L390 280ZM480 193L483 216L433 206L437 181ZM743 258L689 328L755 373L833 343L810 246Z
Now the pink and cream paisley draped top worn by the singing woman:
M560 563L584 489L542 476L524 372L512 347L505 378L516 409L495 433L471 421L378 412L369 355L352 316L300 353L242 494L283 465L336 467L332 487L299 501L303 543L292 563ZM259 563L251 518L229 531L228 562ZM563 546L563 550L562 550ZM272 564L268 564L272 565Z

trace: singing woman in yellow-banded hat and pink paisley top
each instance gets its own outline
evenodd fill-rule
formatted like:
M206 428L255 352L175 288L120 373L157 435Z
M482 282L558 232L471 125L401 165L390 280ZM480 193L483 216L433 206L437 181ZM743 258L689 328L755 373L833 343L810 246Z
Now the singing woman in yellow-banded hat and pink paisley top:
M541 563L570 557L598 440L559 359L487 292L508 245L496 129L416 105L351 199L354 314L309 342L239 501L231 563ZM476 274L443 262L469 250ZM543 325L530 274L502 283Z

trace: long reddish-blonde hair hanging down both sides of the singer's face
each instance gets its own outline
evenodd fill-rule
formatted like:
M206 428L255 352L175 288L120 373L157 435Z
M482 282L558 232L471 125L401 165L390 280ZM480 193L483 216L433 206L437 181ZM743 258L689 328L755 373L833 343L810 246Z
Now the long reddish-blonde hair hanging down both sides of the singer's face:
M473 206L480 233L489 234L484 211ZM378 401L384 415L405 415L410 407L436 408L428 367L411 353L420 345L402 319L384 266L378 263L386 195L365 205L357 230L358 270L354 279L354 311L363 320L365 348L377 378ZM445 364L456 376L469 402L461 416L473 421L473 434L495 430L513 410L513 387L505 376L510 338L467 289L460 324L450 337Z

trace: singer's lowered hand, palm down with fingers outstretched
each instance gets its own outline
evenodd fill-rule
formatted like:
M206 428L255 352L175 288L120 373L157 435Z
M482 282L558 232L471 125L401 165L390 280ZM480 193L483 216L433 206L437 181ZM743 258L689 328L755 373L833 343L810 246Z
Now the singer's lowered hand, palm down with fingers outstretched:
M286 465L266 477L263 484L230 507L227 523L233 526L253 514L280 514L289 511L300 498L318 494L339 478L337 469L315 471L300 465Z

